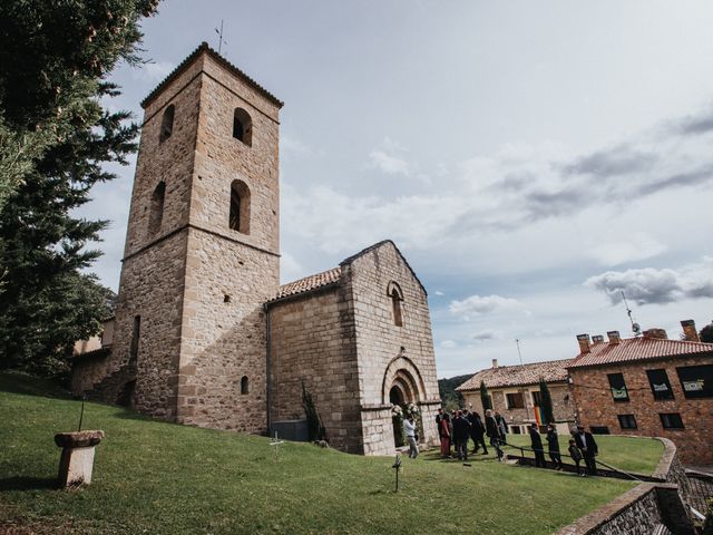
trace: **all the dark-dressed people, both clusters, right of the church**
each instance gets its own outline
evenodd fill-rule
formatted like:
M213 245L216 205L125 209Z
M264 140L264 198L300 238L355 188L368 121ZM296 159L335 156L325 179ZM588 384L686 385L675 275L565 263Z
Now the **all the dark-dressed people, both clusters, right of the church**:
M484 421L478 412L469 411L468 409L452 410L450 414L443 409L438 409L436 426L441 441L442 458L450 458L455 455L459 460L468 460L468 439L471 439L473 442L472 455L476 455L480 448L482 448L482 455L488 455L488 447L485 440L486 436L488 437L488 442L495 449L498 460L501 461L505 457L501 446L507 444L507 422L498 411L486 410ZM546 468L545 447L539 432L539 426L531 424L528 431L531 449L535 453L535 466ZM547 440L549 459L555 465L556 470L561 470L564 465L559 450L559 437L554 424L547 425L545 440ZM451 448L455 448L455 454L451 451ZM586 431L583 426L577 426L569 439L568 454L577 466L578 475L596 475L597 465L595 457L598 453L599 450L594 436L589 431ZM585 464L584 470L580 468L583 460Z

